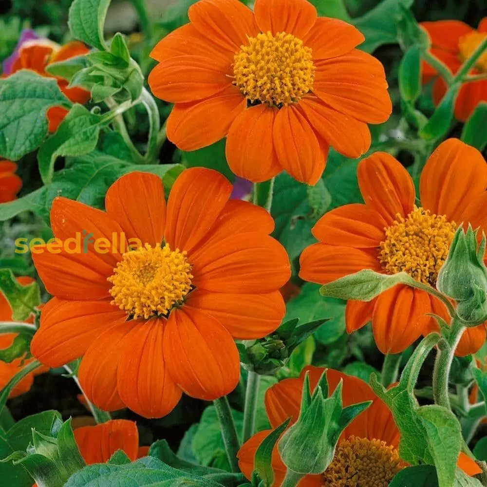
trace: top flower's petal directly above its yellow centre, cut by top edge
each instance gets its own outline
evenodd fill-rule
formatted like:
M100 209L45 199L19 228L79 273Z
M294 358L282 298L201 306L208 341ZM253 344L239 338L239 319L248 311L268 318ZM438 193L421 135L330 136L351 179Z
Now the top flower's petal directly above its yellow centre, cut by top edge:
M306 0L256 0L254 14L262 32L285 32L301 39L317 19L316 8Z

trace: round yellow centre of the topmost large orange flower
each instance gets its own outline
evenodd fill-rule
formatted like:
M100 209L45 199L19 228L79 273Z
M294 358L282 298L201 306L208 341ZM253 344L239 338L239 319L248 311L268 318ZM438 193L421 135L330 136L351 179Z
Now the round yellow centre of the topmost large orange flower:
M234 60L233 83L251 103L290 105L313 88L311 49L291 34L267 32L249 37Z

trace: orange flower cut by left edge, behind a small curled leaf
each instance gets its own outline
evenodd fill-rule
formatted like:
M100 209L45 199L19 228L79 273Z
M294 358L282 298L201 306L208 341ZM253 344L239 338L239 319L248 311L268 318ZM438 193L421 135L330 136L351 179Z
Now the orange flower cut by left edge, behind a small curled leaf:
M34 280L28 276L18 277L17 281L22 285L26 286ZM12 321L12 309L10 304L5 299L3 294L0 292L0 321ZM5 333L0 335L0 349L5 349L12 345L14 338L17 336L15 333ZM0 361L0 390L3 389L8 381L16 375L20 370L22 370L25 365L27 365L32 360L24 360L22 358L16 358L10 363ZM37 369L34 372L26 375L12 390L9 397L16 397L19 394L26 393L34 382L34 376L45 372L46 369Z

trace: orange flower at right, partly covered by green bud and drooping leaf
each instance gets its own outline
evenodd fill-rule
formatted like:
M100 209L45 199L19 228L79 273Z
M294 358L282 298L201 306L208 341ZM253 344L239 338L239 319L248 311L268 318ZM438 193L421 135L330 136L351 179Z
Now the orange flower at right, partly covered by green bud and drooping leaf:
M405 271L434 287L456 227L463 223L480 227L481 233L487 230L487 165L478 150L457 139L440 144L426 163L419 185L421 206L416 206L411 176L391 155L375 152L359 163L357 172L365 204L338 207L313 227L320 242L300 258L300 277L306 281L327 284L373 269ZM396 285L372 301L349 301L347 331L372 320L379 350L397 354L438 329L428 313L449 320L440 300ZM474 353L485 340L484 325L468 328L456 354Z

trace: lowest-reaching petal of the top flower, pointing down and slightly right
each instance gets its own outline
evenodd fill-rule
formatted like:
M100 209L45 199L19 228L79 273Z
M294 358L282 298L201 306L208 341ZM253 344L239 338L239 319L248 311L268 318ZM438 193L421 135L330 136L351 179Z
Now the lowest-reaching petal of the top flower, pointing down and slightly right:
M325 154L298 108L279 110L272 138L280 165L297 181L315 185L325 169Z

